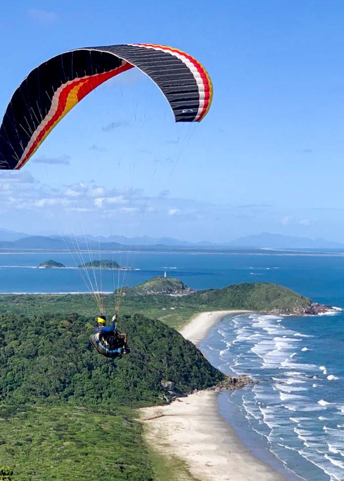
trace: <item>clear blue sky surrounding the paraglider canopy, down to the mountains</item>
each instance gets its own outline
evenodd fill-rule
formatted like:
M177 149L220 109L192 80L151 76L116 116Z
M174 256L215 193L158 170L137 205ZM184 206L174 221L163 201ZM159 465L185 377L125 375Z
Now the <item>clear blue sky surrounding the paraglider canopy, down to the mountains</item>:
M174 124L138 71L99 87L19 173L0 172L0 227L342 240L341 1L16 0L0 15L2 112L30 70L81 46L173 45L214 84L210 112L191 126Z

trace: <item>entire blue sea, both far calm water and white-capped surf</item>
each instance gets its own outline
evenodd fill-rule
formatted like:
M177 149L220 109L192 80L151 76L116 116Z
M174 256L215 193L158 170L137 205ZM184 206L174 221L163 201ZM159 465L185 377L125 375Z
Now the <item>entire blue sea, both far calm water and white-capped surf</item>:
M166 271L196 289L274 282L344 308L344 254L339 252L142 252L113 253L112 258L139 270L98 271L103 291ZM70 269L36 268L47 259ZM0 291L87 292L89 286L73 268L77 263L66 253L0 254ZM344 311L316 317L229 316L200 348L223 372L258 381L253 388L219 396L221 414L256 456L290 480L344 481Z

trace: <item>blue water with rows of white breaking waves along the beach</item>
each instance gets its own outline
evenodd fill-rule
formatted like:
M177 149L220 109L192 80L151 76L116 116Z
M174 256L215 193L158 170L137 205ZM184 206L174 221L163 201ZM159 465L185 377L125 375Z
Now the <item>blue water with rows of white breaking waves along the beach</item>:
M343 332L340 311L244 314L225 318L200 344L221 371L259 381L221 394L219 409L251 451L291 481L344 480Z

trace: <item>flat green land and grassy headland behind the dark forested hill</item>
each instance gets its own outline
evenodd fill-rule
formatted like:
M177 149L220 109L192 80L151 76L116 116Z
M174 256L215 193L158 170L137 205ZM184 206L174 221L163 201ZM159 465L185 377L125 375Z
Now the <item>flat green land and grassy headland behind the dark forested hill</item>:
M223 289L209 289L179 297L142 295L142 291L137 292L137 287L124 289L121 312L158 318L168 326L176 328L202 311L247 309L262 312L280 310L288 313L300 308L307 309L311 305L311 300L307 297L266 282L234 284ZM104 295L104 305L106 312L112 316L115 296ZM83 316L94 317L98 314L90 294L0 294L0 312L24 316L40 315L42 312L65 315L77 312Z

